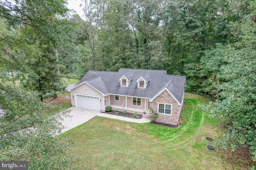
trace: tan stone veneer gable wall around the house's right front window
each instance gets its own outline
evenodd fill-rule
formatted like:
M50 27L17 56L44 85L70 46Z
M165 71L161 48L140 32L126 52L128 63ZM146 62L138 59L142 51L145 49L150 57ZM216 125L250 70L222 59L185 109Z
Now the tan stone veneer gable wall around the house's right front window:
M172 104L172 115L165 115L158 113L158 119L156 121L162 123L168 123L172 125L178 124L178 113L179 106L178 103L172 98L172 96L165 90L160 94L157 98L155 98L152 102L152 109L158 112L158 103Z

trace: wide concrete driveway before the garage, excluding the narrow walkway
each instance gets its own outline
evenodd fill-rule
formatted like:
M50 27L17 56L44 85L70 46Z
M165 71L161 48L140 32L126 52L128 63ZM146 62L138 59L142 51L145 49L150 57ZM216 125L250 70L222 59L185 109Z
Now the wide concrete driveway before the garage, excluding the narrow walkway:
M77 127L78 125L82 125L84 122L92 119L92 117L100 114L100 111L88 110L79 107L70 107L71 111L69 115L72 117L63 117L62 125L65 127L62 129L62 133Z

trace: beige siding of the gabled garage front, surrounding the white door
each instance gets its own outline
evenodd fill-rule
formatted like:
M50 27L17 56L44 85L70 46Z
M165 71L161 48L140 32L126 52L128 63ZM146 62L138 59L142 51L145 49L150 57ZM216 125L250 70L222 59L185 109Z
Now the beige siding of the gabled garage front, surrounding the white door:
M100 98L100 111L104 111L104 97L102 96L102 94L100 92L98 92L97 90L95 90L94 88L92 88L91 86L89 86L88 84L81 84L80 86L73 88L71 90L71 102L72 102L72 106L75 107L76 103L75 103L75 94L82 94L82 95L86 95L86 96L94 96L94 97L99 97ZM74 97L73 97L74 96ZM105 97L106 98L106 97Z

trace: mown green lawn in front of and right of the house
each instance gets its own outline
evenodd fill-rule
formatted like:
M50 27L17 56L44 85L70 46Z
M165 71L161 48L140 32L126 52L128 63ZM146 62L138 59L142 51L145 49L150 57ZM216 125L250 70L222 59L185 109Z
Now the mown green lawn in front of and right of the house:
M72 140L68 153L74 156L73 169L158 169L158 170L224 170L246 169L252 164L241 158L226 158L214 142L222 136L216 119L198 108L208 101L200 96L186 94L179 128L151 123L132 123L94 117L86 123L60 135ZM214 145L208 150L206 145Z

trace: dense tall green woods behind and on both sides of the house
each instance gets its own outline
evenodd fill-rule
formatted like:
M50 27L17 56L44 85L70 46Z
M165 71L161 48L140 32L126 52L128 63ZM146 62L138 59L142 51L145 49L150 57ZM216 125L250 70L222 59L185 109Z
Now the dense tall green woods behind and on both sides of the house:
M248 145L256 160L254 0L84 0L85 20L65 4L0 0L0 94L9 86L43 100L64 89L63 76L166 70L212 100L202 107L226 127L222 145Z

